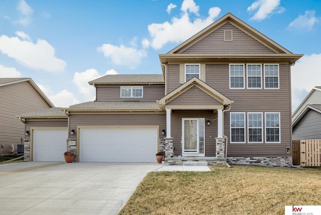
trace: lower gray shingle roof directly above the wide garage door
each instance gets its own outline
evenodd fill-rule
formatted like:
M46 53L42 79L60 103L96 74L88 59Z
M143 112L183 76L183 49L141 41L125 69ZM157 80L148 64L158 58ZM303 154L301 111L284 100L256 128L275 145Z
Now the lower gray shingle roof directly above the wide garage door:
M71 105L71 109L159 110L159 105L156 101L89 101Z

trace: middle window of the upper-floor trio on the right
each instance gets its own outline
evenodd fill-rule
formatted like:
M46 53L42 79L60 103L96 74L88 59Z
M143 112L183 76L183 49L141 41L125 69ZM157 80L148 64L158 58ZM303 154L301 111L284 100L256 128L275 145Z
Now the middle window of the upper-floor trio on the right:
M262 89L262 65L247 64L247 88Z

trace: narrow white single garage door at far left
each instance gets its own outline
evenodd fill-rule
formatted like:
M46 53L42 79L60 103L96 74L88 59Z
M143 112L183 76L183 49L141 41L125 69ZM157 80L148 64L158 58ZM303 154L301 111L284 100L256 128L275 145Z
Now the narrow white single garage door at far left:
M34 161L65 161L67 149L67 129L34 130L33 160Z

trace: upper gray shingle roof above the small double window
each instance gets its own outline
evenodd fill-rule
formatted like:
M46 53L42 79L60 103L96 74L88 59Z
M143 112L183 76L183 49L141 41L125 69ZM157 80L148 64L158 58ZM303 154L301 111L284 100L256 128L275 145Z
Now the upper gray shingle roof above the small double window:
M158 74L145 75L105 75L88 82L93 84L164 84L164 76Z

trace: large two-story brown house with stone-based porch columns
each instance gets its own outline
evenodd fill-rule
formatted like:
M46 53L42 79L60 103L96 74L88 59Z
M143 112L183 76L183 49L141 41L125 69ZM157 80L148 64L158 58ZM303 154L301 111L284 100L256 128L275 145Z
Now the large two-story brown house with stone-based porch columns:
M78 162L156 162L165 151L169 164L291 165L290 67L301 56L226 14L160 54L162 74L90 81L95 101L61 109L67 149ZM41 160L33 136L43 122L21 117L30 160Z

